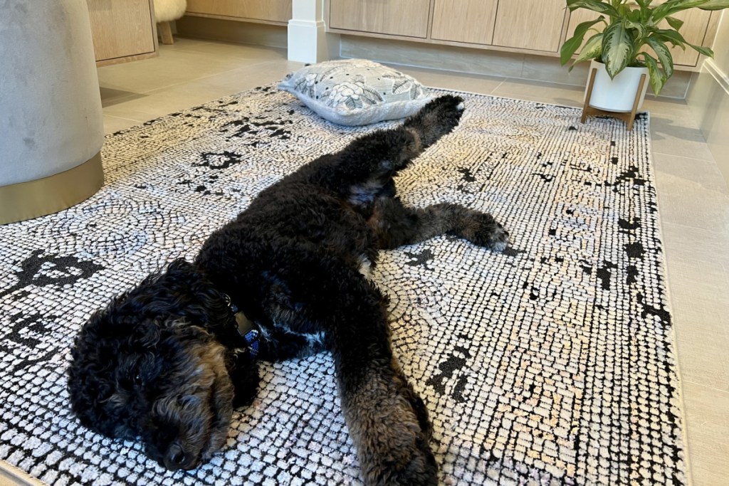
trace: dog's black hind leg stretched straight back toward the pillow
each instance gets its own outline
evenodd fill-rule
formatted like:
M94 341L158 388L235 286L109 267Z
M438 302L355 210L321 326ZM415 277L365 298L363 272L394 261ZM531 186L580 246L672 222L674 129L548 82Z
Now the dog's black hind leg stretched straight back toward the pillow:
M435 98L397 128L356 138L335 154L311 162L298 177L362 198L378 194L411 160L458 125L463 99ZM367 197L364 197L367 199Z

